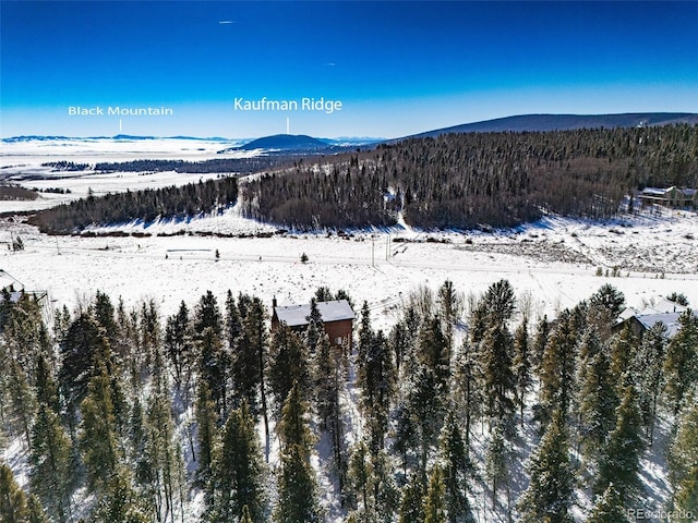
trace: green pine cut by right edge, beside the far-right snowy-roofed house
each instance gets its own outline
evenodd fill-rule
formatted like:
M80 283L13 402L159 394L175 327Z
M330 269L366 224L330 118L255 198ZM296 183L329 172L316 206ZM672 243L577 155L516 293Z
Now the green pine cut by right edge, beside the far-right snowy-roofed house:
M687 391L698 382L698 316L687 309L678 317L678 325L664 361L665 393L674 415L681 411Z

